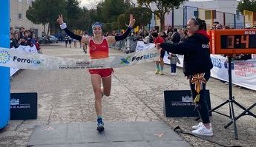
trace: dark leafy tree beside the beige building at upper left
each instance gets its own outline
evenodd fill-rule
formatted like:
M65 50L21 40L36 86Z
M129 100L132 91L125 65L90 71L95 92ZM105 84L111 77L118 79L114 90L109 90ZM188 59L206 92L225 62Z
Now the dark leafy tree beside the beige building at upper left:
M50 33L50 27L56 25L56 18L59 14L65 13L65 0L36 0L32 1L26 12L28 20L34 24L48 25L47 35Z

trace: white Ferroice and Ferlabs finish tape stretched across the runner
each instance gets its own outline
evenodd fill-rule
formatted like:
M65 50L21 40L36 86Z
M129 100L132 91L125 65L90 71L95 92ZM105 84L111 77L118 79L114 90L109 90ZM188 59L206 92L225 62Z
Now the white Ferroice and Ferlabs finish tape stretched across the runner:
M112 56L106 59L85 61L82 59L59 58L50 55L23 52L18 49L0 48L0 66L19 69L105 69L159 60L157 49L147 49L131 54Z

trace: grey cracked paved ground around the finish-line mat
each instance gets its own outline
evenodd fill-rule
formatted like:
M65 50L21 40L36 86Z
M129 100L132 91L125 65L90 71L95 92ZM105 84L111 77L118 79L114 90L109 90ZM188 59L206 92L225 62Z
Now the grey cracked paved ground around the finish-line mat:
M42 50L46 55L55 55L62 58L88 58L88 55L85 55L81 48L65 48L63 43L42 46ZM123 54L123 52L111 49L111 56L120 54ZM191 131L191 126L198 123L195 121L195 117L165 117L163 114L163 91L188 90L188 80L184 77L181 68L177 69L176 76L171 76L170 66L165 65L165 75L155 75L154 66L154 63L148 63L114 69L111 96L102 99L102 115L106 126L104 137L107 136L108 130L114 128L116 125L117 128L122 124L131 125L132 127L126 131L114 131L111 129L109 131L111 132L111 136L108 137L116 137L117 134L121 135L122 133L125 135L127 132L134 133L134 131L131 131L132 129L145 124L143 127L147 128L147 125L149 125L150 127L148 129L153 129L150 134L146 134L145 136L151 135L151 137L154 136L157 138L157 135L153 134L153 132L158 133L157 130L160 130L159 133L161 133L163 128L166 129L163 133L166 135L161 139L164 141L161 142L162 144L159 143L159 146L165 146L165 143L168 143L169 146L218 146L217 144L209 143L197 137L176 134L172 131L176 126L180 126L186 131ZM28 146L30 143L39 143L33 140L35 139L33 137L36 137L34 135L40 135L40 127L49 126L59 128L59 130L62 130L60 129L61 127L70 126L74 128L74 134L76 134L76 131L79 131L76 130L77 127L82 126L80 131L84 131L80 132L80 134L86 138L90 135L86 134L84 127L88 127L88 133L90 132L92 136L95 136L96 112L88 71L82 69L59 71L26 69L19 71L18 74L13 76L10 86L11 92L38 92L38 118L36 120L11 120L8 126L0 131L0 146L20 147ZM211 108L220 105L220 103L223 103L229 97L228 85L217 79L210 78L206 88L210 91ZM235 100L246 108L256 101L256 92L250 89L234 87L233 95ZM229 115L229 105L220 107L218 111ZM234 106L234 113L236 115L241 112L243 112L242 109ZM251 112L256 114L256 108L252 109ZM234 139L233 125L224 129L224 126L229 121L230 119L228 117L213 112L211 122L214 137L208 138L214 142L223 143L228 146L256 146L255 117L246 115L237 120L238 140ZM152 124L154 125L152 126ZM110 127L108 128L108 126ZM163 128L159 129L158 127ZM147 131L148 129L145 130ZM42 137L44 135L42 132ZM142 137L142 134L137 135ZM106 144L104 140L100 140L100 137L96 137L99 139L97 143L103 143L102 146L122 146L115 144L117 143L115 142L115 138L107 140L107 143L110 144ZM123 140L132 141L132 138L129 138L131 135L120 137L122 138L122 140L119 140L121 142ZM135 143L134 146L143 146L143 143L150 142L146 137L140 137L140 140L136 142L139 144L133 142ZM90 138L93 139L93 137ZM63 140L63 138L61 139ZM178 145L174 141L177 141L178 143L175 143ZM80 140L79 143L87 142ZM151 144L150 146L153 145Z

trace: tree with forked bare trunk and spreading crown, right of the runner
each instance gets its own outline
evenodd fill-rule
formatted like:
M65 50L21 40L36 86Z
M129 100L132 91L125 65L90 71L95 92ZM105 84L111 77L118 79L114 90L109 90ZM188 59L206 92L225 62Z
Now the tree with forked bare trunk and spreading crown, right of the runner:
M145 6L151 13L154 13L156 16L160 18L160 30L163 31L165 28L165 13L174 10L174 7L180 7L180 4L183 4L185 0L137 0L140 6ZM157 10L153 10L151 4L155 4Z

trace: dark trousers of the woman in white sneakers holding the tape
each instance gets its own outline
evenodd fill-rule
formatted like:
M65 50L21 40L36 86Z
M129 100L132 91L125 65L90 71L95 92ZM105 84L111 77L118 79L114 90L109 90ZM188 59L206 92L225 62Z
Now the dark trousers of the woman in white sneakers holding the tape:
M203 76L206 81L209 80L211 76L211 72L206 72L205 75ZM192 78L192 76L191 76ZM194 89L195 83L191 83L191 78L189 79L189 83L190 83L190 88L191 88L191 95L194 98L197 96L197 92ZM199 103L197 103L197 112L199 112L200 114L200 118L202 120L203 123L210 123L210 119L209 119L209 108L208 105L206 103L206 83L203 83L203 89L200 91L200 100Z

